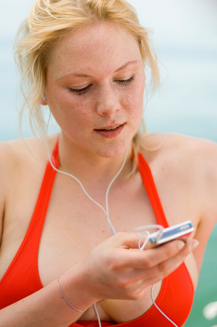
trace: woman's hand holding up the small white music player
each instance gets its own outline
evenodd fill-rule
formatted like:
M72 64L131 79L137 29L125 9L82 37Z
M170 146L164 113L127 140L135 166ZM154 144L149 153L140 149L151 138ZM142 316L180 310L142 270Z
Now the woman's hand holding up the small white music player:
M135 233L118 232L79 263L96 298L140 299L150 285L161 281L184 261L195 240L174 240L147 250L139 250L138 241Z

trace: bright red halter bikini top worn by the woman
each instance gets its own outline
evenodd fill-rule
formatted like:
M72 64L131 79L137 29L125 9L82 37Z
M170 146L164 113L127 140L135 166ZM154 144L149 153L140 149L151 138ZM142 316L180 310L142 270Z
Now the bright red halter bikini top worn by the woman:
M57 168L58 141L53 150L52 162ZM138 169L142 176L148 197L158 224L168 227L166 217L155 187L150 168L141 153L138 154ZM56 171L48 161L39 191L36 207L23 242L0 281L0 309L19 301L43 287L38 271L38 248L46 217ZM181 326L191 311L194 300L194 288L184 263L163 279L156 304L178 326ZM122 324L101 321L102 327L170 327L171 323L163 317L154 305L141 317ZM78 320L71 327L98 326L98 321Z

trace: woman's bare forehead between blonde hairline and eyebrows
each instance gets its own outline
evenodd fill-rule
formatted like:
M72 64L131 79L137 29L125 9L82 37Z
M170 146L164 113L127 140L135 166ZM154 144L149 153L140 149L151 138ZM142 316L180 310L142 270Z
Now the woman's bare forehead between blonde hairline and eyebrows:
M98 23L65 35L54 48L51 59L52 70L65 70L66 66L94 70L105 65L115 69L128 60L140 60L141 55L137 41L124 28Z

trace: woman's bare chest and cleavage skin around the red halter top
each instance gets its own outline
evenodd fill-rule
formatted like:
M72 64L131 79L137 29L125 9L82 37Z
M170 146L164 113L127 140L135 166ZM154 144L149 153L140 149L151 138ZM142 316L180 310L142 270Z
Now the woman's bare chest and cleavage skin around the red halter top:
M154 179L168 224L173 225L190 219L196 226L197 216L194 203L186 201L186 193L182 195L175 185L168 186L168 183L167 185L162 183L162 178L158 175ZM93 195L90 195L105 208L105 198L100 193L103 192L93 189ZM10 248L5 247L7 250L3 251L5 257L9 258L8 262L6 260L6 267L3 267L5 270L13 259L12 253L16 253L22 242L28 227L27 222L29 222L27 213L31 216L34 205L31 196L26 193L25 205L22 207L25 210L19 206L16 207L18 217L20 219L26 217L26 219L22 219L21 226L23 228L19 231L20 238L15 238L18 240L17 242L13 242L15 233L8 232L12 245ZM109 217L116 232L132 232L138 226L159 223L139 172L133 179L123 183L121 187L110 189L108 205ZM39 242L38 268L42 285L49 284L64 271L81 261L90 250L110 236L107 218L102 209L89 200L78 185L70 182L66 184L60 176L56 176ZM4 247L2 249L4 250ZM186 259L186 267L196 285L197 275L193 254ZM161 284L159 282L155 286L154 299L161 290ZM118 305L120 305L118 300L113 301L112 304L105 304L105 301L101 301L99 304L101 320L111 320L107 309ZM143 299L142 312L137 310L136 305L135 301L130 301L129 308L134 316L128 317L127 320L139 317L144 313L144 308L146 311L150 308L152 305L150 292L147 292L147 297ZM89 308L80 319L97 320L94 308Z

